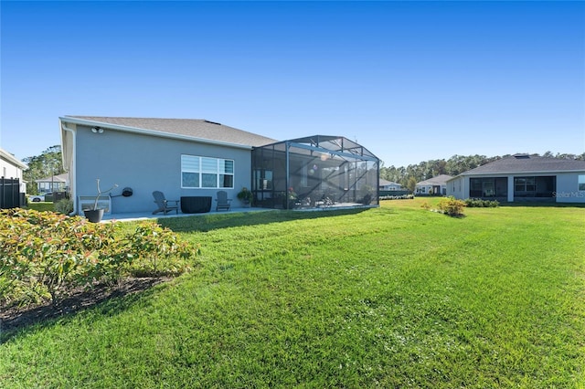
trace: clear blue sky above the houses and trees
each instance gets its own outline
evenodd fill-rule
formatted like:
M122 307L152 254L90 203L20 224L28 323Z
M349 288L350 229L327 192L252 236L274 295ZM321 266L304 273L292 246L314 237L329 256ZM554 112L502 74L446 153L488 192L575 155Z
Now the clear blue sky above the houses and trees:
M1 1L0 147L63 115L356 140L402 166L585 152L583 2Z

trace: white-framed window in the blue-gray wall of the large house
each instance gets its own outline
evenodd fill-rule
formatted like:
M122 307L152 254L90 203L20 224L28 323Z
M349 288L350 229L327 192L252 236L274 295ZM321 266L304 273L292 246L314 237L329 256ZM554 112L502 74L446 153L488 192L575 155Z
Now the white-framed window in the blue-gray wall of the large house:
M233 188L234 162L221 158L181 155L181 187Z

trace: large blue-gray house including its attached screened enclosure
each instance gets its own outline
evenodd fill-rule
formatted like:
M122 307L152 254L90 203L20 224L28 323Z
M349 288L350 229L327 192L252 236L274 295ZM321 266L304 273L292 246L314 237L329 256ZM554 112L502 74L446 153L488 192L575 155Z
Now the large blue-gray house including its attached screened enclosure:
M99 199L113 214L154 211L154 191L181 200L185 213L186 203L220 190L238 207L244 187L255 206L321 206L325 197L378 205L369 190L378 188L378 158L343 137L279 142L214 121L90 116L60 117L59 130L77 214L93 204L97 179L101 191L117 185Z

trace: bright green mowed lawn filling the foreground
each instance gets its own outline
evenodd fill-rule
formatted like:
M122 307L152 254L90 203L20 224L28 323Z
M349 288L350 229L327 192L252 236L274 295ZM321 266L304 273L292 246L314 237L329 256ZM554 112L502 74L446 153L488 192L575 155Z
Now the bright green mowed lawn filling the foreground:
M0 386L585 386L585 208L465 213L165 219L196 270L5 333Z

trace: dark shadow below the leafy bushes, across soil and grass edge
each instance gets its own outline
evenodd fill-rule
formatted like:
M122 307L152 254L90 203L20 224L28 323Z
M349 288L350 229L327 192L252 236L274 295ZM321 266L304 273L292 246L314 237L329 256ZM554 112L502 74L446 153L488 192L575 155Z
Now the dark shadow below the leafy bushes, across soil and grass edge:
M153 287L168 280L168 277L126 279L115 287L104 284L90 290L80 289L58 304L3 310L0 313L0 344L27 331L69 321L84 310L98 310L102 316L118 314L136 302L150 298L154 294Z

